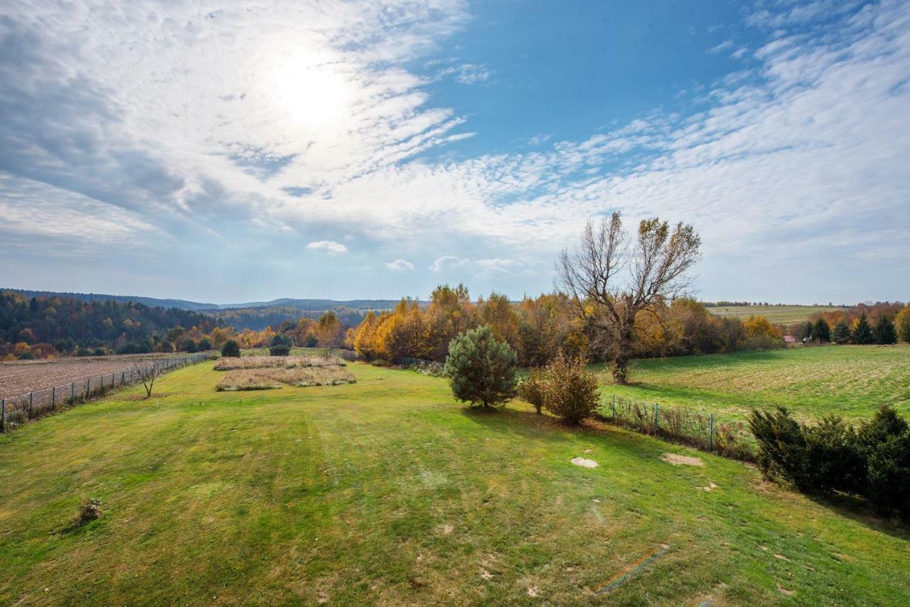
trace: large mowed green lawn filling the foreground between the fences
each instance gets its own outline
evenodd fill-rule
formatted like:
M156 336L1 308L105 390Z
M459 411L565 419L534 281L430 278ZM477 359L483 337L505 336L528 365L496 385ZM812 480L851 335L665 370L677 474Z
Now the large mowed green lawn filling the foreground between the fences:
M566 430L521 402L470 412L443 379L349 369L355 385L217 393L204 363L152 400L128 389L0 436L0 604L910 596L910 535L894 521L733 460ZM61 532L87 498L101 518Z

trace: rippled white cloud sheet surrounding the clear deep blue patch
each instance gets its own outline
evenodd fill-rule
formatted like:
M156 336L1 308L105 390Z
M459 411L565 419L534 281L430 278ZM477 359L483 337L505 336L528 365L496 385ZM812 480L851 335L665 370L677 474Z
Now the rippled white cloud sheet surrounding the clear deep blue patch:
M709 294L761 283L811 301L814 289L838 297L831 285L843 285L855 298L866 283L910 280L907 2L762 3L744 22L763 42L736 37L742 69L682 99L682 111L540 138L528 153L472 147L445 160L432 152L470 138L470 119L434 103L432 78L412 66L470 27L457 0L76 0L6 3L0 14L6 245L46 235L40 213L126 239L126 252L166 242L200 263L217 250L293 267L288 251L300 242L343 252L329 239L338 234L385 258L436 258L446 239L452 258L521 259L478 263L520 290L551 282L544 271L529 284L521 268L551 268L586 218L619 208L630 220L693 223ZM705 50L732 50L715 44ZM490 73L458 64L449 76L490 83ZM45 202L35 205L35 193ZM410 248L399 253L402 241ZM57 248L40 259L10 249L0 258L10 279L66 259ZM327 259L327 274L355 257ZM146 269L197 282L167 260ZM320 269L310 270L316 287Z

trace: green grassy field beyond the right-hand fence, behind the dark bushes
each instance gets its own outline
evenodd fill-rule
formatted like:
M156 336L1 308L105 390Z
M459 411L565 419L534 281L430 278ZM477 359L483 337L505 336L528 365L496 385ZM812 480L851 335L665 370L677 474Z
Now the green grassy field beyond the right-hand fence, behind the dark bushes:
M602 369L602 394L682 405L743 420L784 405L804 418L869 417L883 404L910 417L910 346L802 346L632 362L630 386Z

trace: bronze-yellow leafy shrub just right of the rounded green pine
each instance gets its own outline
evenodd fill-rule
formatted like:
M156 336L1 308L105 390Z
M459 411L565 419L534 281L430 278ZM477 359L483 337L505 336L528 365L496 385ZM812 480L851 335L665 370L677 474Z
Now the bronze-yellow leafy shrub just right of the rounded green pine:
M560 351L546 367L543 407L568 423L591 417L600 400L597 376L585 367L582 357Z

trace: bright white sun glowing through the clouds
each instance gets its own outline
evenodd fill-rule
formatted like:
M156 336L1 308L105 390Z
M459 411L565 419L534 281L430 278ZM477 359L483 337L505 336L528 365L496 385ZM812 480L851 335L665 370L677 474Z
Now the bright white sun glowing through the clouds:
M325 130L339 126L349 114L352 85L337 65L297 53L287 56L273 72L278 106L300 126Z

